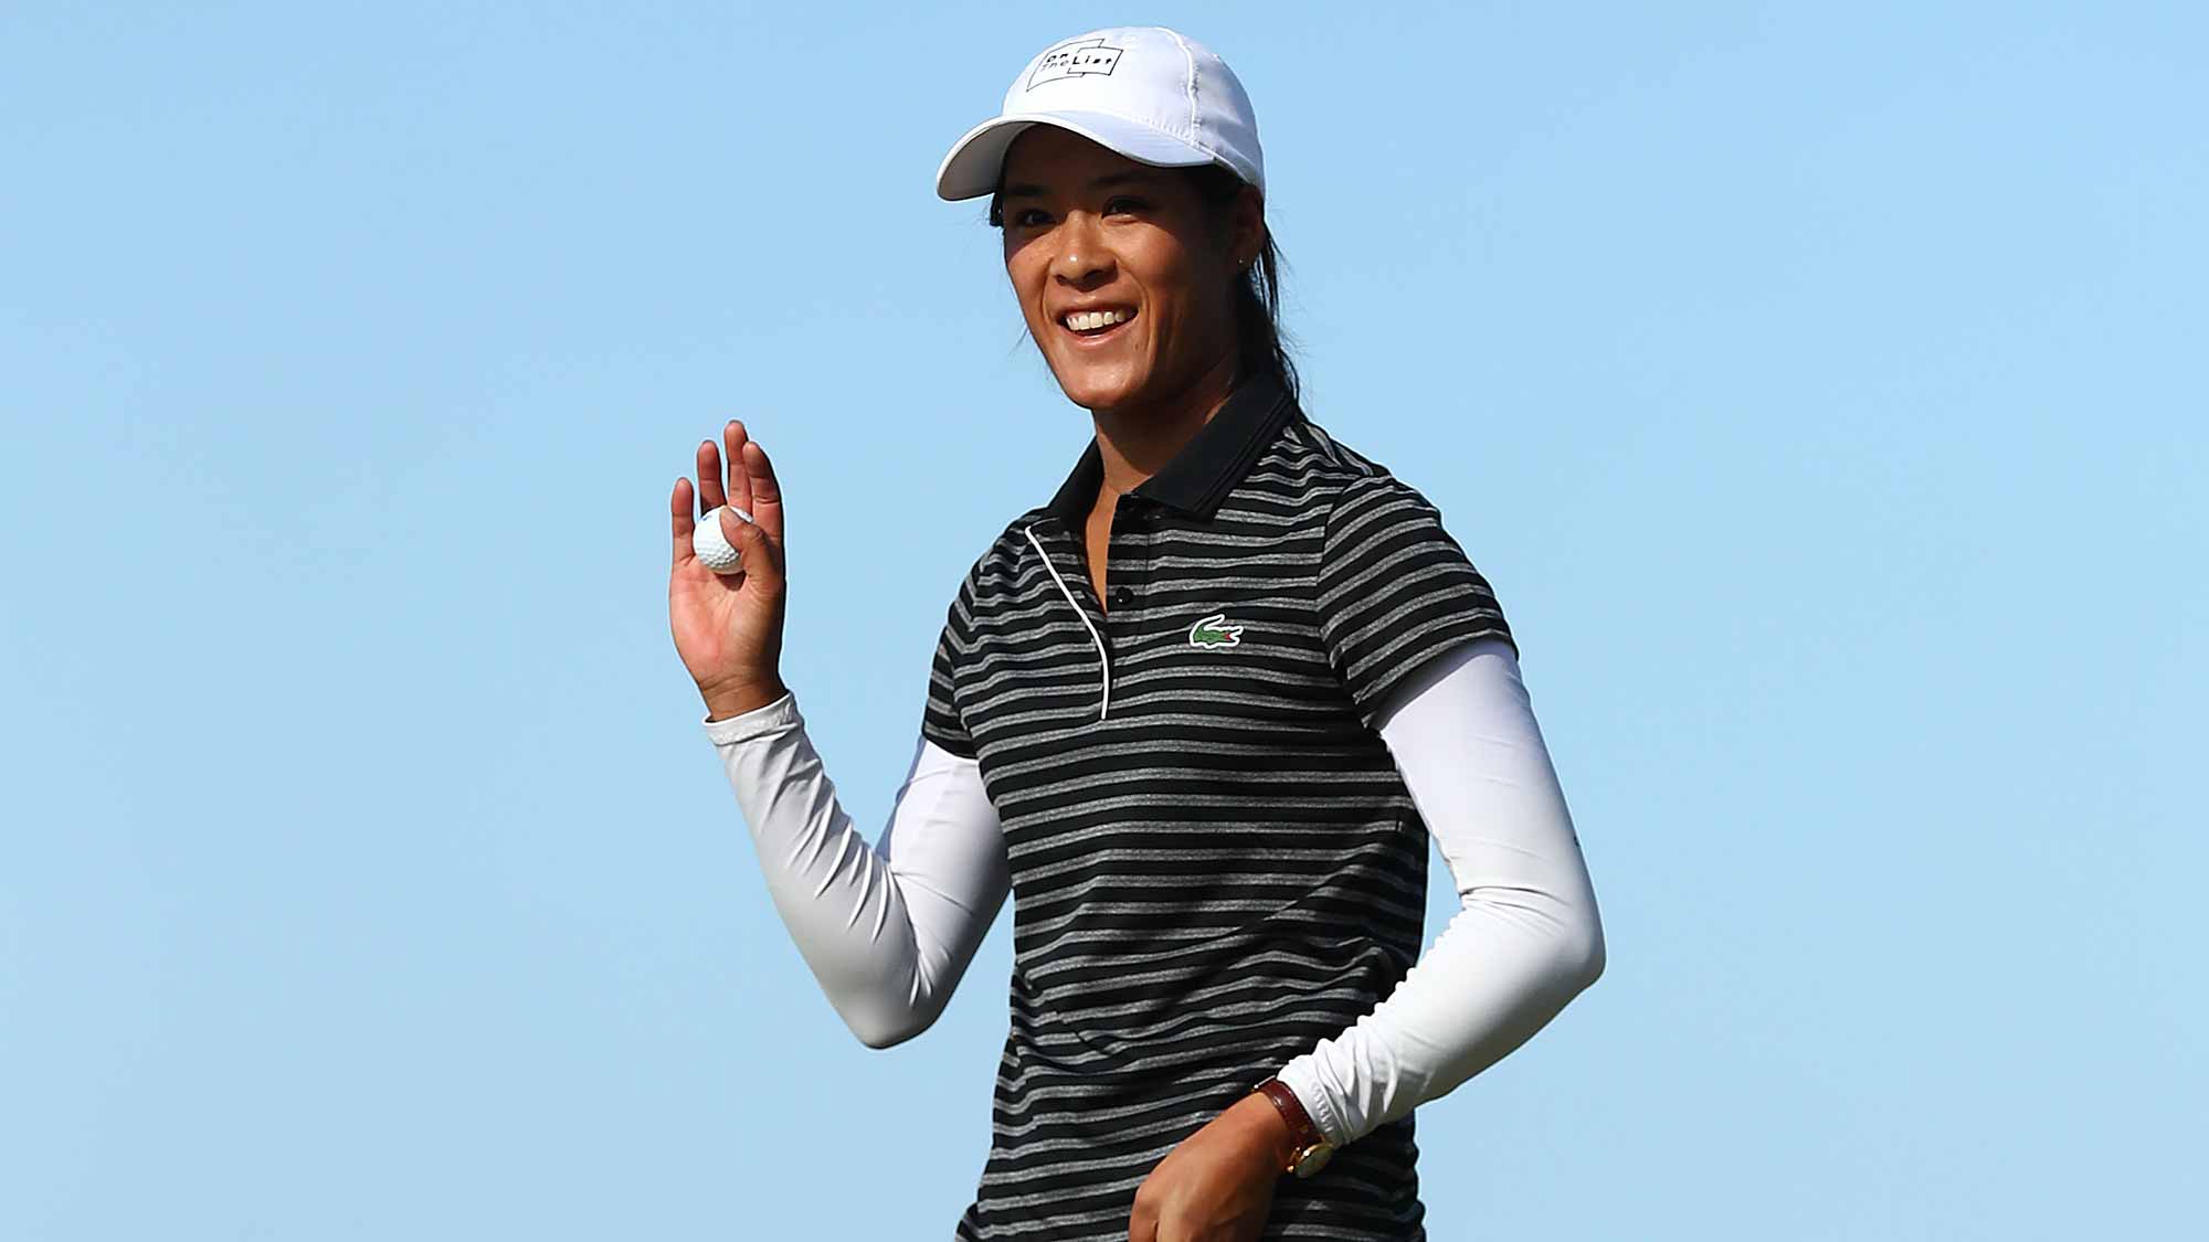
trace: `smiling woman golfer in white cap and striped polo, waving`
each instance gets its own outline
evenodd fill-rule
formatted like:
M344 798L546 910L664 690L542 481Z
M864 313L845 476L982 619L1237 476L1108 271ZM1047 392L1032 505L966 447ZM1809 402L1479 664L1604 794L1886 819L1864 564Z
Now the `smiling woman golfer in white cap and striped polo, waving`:
M943 159L1093 435L959 583L875 844L778 674L767 453L729 422L674 486L676 650L850 1030L926 1030L1014 899L963 1240L1425 1238L1414 1105L1604 968L1495 594L1299 407L1264 190L1241 84L1160 27L1045 49ZM742 572L691 550L716 508ZM1462 908L1420 955L1429 835Z

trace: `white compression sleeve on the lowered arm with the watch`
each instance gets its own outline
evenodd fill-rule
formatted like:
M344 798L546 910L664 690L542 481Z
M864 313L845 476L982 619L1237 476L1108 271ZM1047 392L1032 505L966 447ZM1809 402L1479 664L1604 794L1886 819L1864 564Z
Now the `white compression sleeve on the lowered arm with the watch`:
M1381 705L1381 736L1460 908L1387 999L1279 1070L1336 1147L1487 1070L1604 972L1595 888L1513 650L1447 652Z

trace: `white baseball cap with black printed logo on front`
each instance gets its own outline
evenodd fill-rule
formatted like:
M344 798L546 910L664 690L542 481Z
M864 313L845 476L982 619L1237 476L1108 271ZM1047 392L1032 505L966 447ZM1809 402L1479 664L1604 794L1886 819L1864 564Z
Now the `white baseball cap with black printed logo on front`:
M1250 95L1228 62L1166 27L1107 27L1027 62L1005 108L970 128L937 168L937 197L996 192L1005 150L1027 126L1069 128L1138 164L1219 164L1266 192Z

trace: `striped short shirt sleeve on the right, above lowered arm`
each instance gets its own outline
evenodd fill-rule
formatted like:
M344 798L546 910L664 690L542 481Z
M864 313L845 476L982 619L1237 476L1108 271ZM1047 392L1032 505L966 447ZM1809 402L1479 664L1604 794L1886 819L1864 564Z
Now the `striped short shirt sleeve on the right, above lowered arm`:
M1328 513L1317 575L1319 636L1367 723L1396 685L1469 639L1518 641L1495 592L1394 475L1345 486Z

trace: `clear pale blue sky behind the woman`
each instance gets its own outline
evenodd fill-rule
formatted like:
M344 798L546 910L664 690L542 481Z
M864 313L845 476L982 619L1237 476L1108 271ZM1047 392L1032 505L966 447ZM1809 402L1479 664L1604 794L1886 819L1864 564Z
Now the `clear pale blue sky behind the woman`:
M2200 7L1328 13L0 13L0 1238L950 1235L1010 908L844 1030L667 491L775 453L873 840L1089 435L930 179L1149 20L1248 84L1308 409L1489 575L1602 897L1418 1112L1436 1242L2198 1222Z

